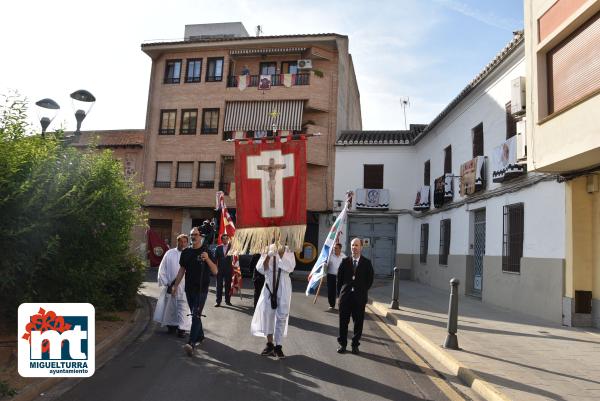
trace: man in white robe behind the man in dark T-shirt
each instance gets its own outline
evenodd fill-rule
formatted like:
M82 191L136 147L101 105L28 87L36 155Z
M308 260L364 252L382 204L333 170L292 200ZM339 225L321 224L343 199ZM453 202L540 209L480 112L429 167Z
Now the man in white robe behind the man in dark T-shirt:
M190 329L192 320L188 316L189 307L185 299L185 294L180 291L177 295L173 294L173 284L179 272L179 258L181 252L188 246L188 236L181 234L177 236L177 248L172 248L164 254L160 266L158 267L158 285L161 287L156 308L154 310L154 320L167 326L169 334L175 333L181 338L185 336L186 330Z

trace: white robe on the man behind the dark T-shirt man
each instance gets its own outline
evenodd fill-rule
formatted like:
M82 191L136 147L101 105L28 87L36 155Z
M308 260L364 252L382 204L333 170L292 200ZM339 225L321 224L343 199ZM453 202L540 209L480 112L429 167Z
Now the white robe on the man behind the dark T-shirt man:
M192 318L188 316L190 308L185 298L185 277L181 280L175 297L167 294L167 287L175 280L179 272L179 257L181 251L177 248L169 249L163 256L158 267L158 285L161 287L156 309L154 309L154 321L163 326L178 326L181 330L189 330L192 326Z

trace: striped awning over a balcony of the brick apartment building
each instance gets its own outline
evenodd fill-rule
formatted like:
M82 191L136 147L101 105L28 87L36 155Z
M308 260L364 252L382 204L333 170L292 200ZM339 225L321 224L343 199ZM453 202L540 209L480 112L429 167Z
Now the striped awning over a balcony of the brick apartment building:
M304 100L227 102L223 131L302 130Z

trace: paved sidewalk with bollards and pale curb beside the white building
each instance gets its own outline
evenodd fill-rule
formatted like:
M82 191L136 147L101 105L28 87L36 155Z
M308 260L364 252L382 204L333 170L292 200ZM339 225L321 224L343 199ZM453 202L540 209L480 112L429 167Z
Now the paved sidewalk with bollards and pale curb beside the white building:
M388 308L391 294L391 281L371 289L374 309L484 398L600 400L597 329L563 327L461 296L461 350L454 351L440 346L447 333L449 289L400 281L395 311Z

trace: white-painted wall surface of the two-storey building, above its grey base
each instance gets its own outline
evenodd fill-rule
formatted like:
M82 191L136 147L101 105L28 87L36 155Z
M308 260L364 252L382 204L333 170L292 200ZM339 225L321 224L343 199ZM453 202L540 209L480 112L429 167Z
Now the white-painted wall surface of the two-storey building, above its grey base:
M452 172L473 157L472 129L483 123L484 155L487 156L486 190L502 187L492 182L492 154L506 140L505 105L510 101L511 80L525 75L523 48L504 61L486 81L457 105L415 146L336 146L334 199L344 199L348 189L362 188L363 165L384 164L384 188L390 190L390 210L412 210L415 194L423 183L423 167L431 163L431 183L443 174L444 148L452 146ZM460 201L459 179L454 179L454 201ZM433 194L431 196L433 200ZM486 255L502 255L503 206L525 204L524 257L565 257L565 186L541 182L517 192L492 197L424 217L398 216L397 253L420 252L421 224L429 223L428 254L439 253L440 220L451 222L450 254L472 254L472 210L486 208ZM433 210L433 205L432 205Z

